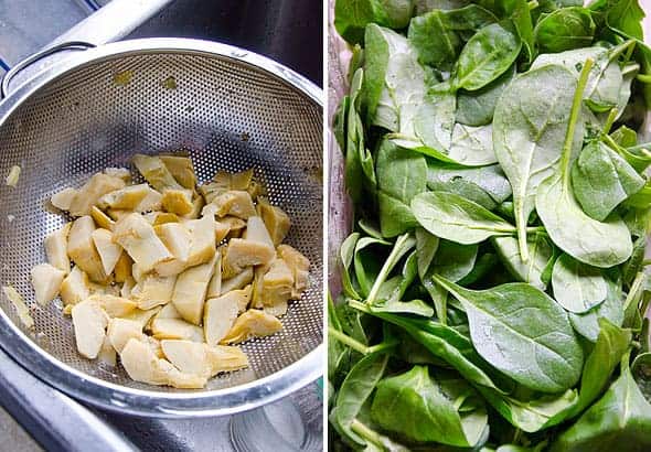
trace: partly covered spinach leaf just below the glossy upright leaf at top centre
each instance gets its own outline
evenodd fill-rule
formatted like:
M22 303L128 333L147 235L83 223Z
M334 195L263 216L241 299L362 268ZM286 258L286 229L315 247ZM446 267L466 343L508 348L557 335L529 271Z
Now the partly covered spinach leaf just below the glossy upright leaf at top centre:
M498 99L515 75L515 66L481 89L457 92L457 121L466 126L485 126L493 120Z

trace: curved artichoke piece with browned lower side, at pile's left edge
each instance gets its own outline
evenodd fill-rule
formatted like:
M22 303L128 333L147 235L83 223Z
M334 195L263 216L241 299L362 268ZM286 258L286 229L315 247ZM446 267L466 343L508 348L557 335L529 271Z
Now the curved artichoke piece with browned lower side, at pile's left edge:
M107 275L110 273L104 271L102 259L93 243L94 230L95 222L88 215L75 219L67 237L67 255L90 280L106 283Z

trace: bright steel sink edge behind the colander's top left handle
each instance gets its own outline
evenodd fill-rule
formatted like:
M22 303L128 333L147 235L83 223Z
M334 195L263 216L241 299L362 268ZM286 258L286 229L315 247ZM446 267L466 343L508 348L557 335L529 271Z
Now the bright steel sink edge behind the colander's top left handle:
M173 0L113 0L41 51L18 63L4 74L0 99L44 69L78 51L118 41L152 18Z

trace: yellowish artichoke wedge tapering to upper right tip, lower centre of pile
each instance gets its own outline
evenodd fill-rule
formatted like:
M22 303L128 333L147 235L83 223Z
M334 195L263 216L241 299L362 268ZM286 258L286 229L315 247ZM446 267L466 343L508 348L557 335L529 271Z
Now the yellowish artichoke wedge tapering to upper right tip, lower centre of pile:
M189 268L177 279L172 303L184 320L195 325L201 322L205 293L215 269L216 258L215 254L209 262Z

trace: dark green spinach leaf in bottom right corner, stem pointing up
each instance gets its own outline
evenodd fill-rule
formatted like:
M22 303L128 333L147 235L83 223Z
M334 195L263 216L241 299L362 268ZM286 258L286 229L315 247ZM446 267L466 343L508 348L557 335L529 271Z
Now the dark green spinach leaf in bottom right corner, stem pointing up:
M651 448L651 405L631 375L628 355L621 375L608 391L552 444L552 452L611 451L626 444L627 451Z

